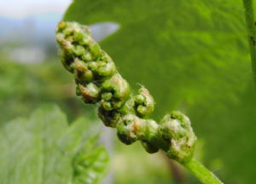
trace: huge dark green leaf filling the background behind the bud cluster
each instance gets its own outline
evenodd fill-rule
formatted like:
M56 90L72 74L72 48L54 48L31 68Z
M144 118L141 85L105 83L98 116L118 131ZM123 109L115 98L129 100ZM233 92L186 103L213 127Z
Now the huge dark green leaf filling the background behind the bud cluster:
M154 95L154 117L183 110L205 140L208 166L223 163L212 170L227 183L256 180L256 101L241 0L74 0L64 20L118 23L102 48L133 87L143 83Z

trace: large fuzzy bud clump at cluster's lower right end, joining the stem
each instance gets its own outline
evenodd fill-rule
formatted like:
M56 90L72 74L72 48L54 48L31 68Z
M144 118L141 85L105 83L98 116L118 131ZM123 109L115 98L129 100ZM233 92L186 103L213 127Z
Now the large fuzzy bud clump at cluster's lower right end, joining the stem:
M160 123L160 132L170 147L167 155L180 163L188 162L194 154L196 136L190 120L182 112L167 114Z

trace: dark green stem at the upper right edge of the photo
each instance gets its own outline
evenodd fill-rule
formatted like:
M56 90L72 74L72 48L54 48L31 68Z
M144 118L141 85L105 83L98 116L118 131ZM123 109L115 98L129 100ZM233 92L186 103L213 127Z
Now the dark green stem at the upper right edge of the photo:
M243 7L247 23L248 41L253 67L253 80L256 84L256 27L254 21L253 0L243 0Z

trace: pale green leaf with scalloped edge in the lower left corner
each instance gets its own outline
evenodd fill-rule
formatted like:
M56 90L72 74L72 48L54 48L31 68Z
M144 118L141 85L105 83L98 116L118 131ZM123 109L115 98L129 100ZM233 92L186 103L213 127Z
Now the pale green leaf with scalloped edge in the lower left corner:
M29 119L4 124L0 130L0 183L77 184L77 177L89 178L80 184L98 183L106 174L108 153L90 141L94 138L90 138L88 126L84 118L68 125L56 106L44 106ZM78 155L91 163L83 166L85 172L79 176L74 175ZM94 165L100 165L98 170Z

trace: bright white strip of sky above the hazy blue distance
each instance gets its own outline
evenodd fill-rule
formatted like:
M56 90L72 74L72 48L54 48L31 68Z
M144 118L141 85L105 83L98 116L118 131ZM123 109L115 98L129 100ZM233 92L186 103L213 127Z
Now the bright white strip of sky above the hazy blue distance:
M63 14L71 0L0 0L0 16L22 19L35 14Z

